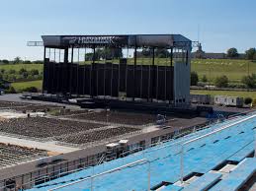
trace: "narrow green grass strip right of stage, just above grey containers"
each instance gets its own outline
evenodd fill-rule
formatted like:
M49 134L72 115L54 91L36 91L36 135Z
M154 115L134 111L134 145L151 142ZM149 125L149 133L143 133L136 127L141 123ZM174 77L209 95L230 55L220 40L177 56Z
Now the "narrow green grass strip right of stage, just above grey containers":
M211 96L250 96L256 99L256 92L237 92L237 91L206 91L206 90L191 90L192 95L211 95Z

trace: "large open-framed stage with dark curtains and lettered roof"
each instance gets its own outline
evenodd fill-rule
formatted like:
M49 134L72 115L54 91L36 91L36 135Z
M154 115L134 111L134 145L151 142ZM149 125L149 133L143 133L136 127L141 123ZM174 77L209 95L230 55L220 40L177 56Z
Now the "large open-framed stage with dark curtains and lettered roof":
M43 92L188 103L192 41L180 34L43 35Z

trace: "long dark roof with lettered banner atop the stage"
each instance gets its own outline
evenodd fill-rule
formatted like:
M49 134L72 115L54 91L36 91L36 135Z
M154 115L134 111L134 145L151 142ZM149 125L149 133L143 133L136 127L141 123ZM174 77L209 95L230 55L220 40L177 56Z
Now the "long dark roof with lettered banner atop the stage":
M123 35L43 35L45 47L177 47L192 48L192 41L181 34L123 34Z

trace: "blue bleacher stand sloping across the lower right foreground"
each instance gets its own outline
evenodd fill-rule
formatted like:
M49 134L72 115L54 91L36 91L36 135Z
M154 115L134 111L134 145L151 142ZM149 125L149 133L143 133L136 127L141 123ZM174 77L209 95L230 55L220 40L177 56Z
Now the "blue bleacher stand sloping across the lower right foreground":
M103 171L117 168L136 161L138 159L148 159L150 161L150 187L154 188L161 182L168 182L170 185L163 189L179 190L189 189L183 188L176 183L180 179L180 146L189 140L199 138L207 133L217 130L224 125L230 127L208 136L204 139L192 142L184 148L183 159L183 177L188 177L190 174L204 174L196 182L192 182L189 186L193 190L193 185L198 186L195 190L237 190L242 184L255 172L255 159L245 159L248 154L253 152L252 145L254 142L254 133L256 127L256 116L243 116L234 118L223 123L213 125L210 129L191 134L189 136L170 141L168 143L147 149L145 151L130 155L123 159L116 159L108 163L100 164L95 167L84 169L74 174L70 174L50 182L43 183L38 187L41 190L48 190L67 183L90 177L92 172L99 174ZM246 150L246 152L244 152ZM219 164L230 159L242 160L229 175L222 177L217 170L214 170ZM248 167L250 166L250 167ZM214 172L216 173L213 174ZM94 179L93 185L96 190L146 190L148 184L148 169L147 164L133 165L122 170L116 170L108 175ZM221 178L223 178L221 180ZM220 181L219 181L220 180ZM197 183L200 181L201 183ZM124 183L126 182L126 183ZM215 184L216 185L213 185ZM228 184L230 187L227 187ZM222 185L222 186L221 186ZM60 190L90 190L90 181L81 181L80 183L72 184L63 187ZM175 189L174 189L175 188ZM225 189L227 188L227 189ZM35 187L35 190L37 187ZM33 189L34 190L34 189Z

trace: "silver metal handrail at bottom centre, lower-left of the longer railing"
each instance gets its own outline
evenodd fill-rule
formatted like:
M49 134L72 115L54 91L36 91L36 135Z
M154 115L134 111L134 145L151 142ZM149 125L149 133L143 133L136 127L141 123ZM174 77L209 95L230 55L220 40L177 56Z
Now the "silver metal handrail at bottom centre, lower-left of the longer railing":
M77 180L77 181L74 181L74 182L71 182L71 183L68 183L68 184L64 184L64 185L61 185L61 186L49 189L48 191L58 190L60 188L68 187L68 186L71 186L71 185L74 185L74 184L77 184L77 183L80 183L80 182L83 182L83 181L86 181L86 180L92 180L93 181L93 179L98 177L98 176L102 176L102 175L105 175L105 174L108 174L108 173L112 173L112 172L115 172L117 170L126 168L126 167L128 167L130 165L134 165L134 164L142 163L142 162L143 163L149 163L149 167L148 167L148 191L150 191L150 161L148 159L139 159L137 161L130 162L130 163L126 164L126 165L122 165L120 167L116 167L116 168L107 170L105 172L101 172L101 173L95 174L95 175L93 175L91 177L87 177L87 178L84 178L82 180ZM91 182L91 191L92 190L93 190L93 185L92 185L92 182Z

